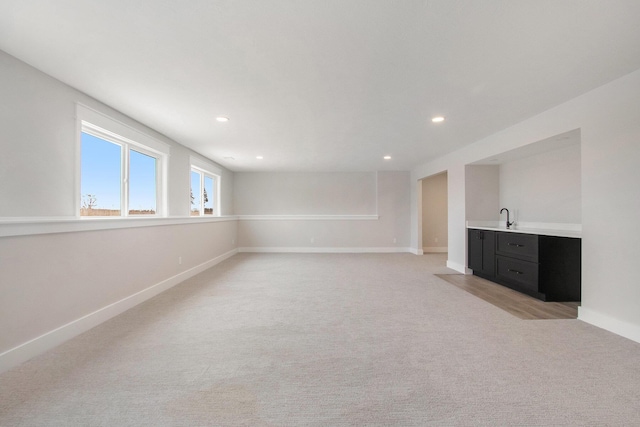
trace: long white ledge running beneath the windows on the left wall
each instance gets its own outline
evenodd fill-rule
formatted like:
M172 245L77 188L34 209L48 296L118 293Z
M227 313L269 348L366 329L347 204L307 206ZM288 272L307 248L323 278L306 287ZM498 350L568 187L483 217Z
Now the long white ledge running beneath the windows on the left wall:
M118 228L157 227L162 225L200 224L203 222L237 221L235 215L215 217L57 217L0 219L0 237L34 234L73 233L80 231L113 230Z

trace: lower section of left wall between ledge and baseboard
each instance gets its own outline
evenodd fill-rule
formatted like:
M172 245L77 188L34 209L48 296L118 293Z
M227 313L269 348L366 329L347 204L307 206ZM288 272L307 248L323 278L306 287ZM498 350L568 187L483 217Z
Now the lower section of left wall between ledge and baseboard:
M84 316L105 320L96 312L174 277L175 285L233 254L236 226L224 221L0 238L0 355Z

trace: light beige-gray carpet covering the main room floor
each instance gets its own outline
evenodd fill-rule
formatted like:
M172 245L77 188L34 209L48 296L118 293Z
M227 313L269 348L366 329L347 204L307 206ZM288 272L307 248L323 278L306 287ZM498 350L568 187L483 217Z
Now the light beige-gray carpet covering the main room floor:
M444 263L236 255L2 374L0 425L640 425L640 344L517 319Z

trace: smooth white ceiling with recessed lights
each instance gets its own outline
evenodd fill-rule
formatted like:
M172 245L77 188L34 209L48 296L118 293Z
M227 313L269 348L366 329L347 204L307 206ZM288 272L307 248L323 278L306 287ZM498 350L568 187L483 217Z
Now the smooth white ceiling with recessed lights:
M408 170L639 69L639 22L637 0L0 0L0 49L231 170Z

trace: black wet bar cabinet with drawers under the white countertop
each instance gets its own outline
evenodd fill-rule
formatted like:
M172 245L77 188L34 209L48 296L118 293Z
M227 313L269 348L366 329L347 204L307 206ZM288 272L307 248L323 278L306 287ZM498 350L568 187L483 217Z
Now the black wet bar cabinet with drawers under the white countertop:
M469 229L473 274L543 301L580 301L581 240Z

